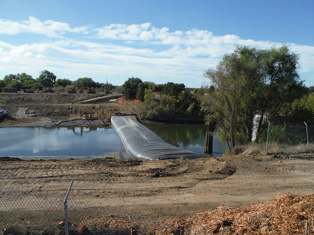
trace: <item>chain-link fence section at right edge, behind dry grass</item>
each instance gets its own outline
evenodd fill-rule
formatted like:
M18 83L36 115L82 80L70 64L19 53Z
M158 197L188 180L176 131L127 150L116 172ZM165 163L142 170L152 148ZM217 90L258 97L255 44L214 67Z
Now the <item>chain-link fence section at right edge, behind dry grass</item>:
M266 154L314 151L314 125L269 125Z

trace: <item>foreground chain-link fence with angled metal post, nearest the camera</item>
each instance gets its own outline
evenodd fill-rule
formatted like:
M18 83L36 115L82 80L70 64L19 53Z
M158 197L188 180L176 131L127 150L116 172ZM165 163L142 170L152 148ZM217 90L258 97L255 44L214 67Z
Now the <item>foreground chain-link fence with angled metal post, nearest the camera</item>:
M0 234L3 235L310 234L307 233L306 226L311 218L307 217L305 220L299 214L295 214L295 210L289 212L288 208L284 209L285 214L288 213L286 218L274 216L272 212L268 212L269 209L257 214L254 213L256 210L246 212L240 208L232 210L211 206L204 207L207 208L206 210L211 208L216 213L194 214L171 207L160 207L157 201L184 203L187 208L188 204L197 205L193 203L106 188L80 181L55 179L64 186L70 185L69 188L73 183L71 190L68 190L62 186L27 181L22 177L14 176L14 172L2 171L2 175L7 174L0 175L3 179L3 183L0 183ZM7 177L8 174L11 176ZM27 183L25 186L30 186L31 189L17 186L24 183ZM43 191L43 188L48 190L48 186L62 191L62 194L66 189L68 193L62 195ZM102 195L98 195L90 189L84 189L84 186L101 187L104 191ZM105 189L123 192L128 199L133 195L146 197L146 199L147 197L154 198L155 201L150 205L139 201L129 201L130 199L125 200L124 197L114 198L106 196ZM122 205L113 206L114 201L120 201ZM142 206L142 211L138 209L139 206ZM159 211L159 213L152 212L151 208L143 210L143 206L153 207L153 211ZM177 216L165 217L163 215L165 211L175 212ZM181 218L184 216L188 218ZM293 229L283 229L286 224L290 224ZM313 227L310 228L314 232ZM256 231L260 232L256 233Z

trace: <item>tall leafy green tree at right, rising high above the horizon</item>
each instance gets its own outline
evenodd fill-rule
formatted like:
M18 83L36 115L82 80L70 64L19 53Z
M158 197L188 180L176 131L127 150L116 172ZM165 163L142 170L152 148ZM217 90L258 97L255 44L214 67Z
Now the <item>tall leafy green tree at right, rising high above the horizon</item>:
M218 123L229 150L243 132L246 141L251 141L255 114L262 117L257 127L258 141L264 130L263 115L273 118L285 102L300 95L304 85L297 73L298 60L299 55L287 46L266 50L236 46L216 68L204 73L214 86L207 97L208 118Z

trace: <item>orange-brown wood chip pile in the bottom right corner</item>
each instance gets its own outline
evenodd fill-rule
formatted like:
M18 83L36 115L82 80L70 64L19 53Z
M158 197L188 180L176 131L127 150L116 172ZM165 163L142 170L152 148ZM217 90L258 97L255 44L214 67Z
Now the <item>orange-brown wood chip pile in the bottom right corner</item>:
M218 207L187 219L167 219L156 235L314 234L314 194L284 194L257 205Z

